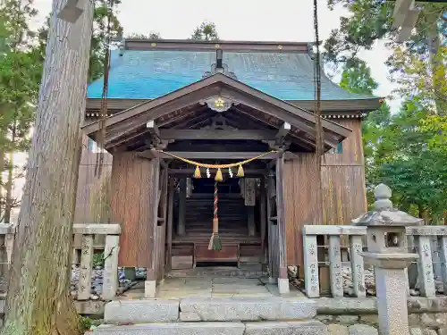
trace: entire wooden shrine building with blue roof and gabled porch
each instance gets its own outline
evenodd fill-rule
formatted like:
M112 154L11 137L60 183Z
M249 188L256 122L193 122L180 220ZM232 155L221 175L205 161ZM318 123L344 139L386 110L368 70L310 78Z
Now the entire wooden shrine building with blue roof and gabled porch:
M347 224L366 211L361 119L379 98L321 79L318 217L314 66L304 43L122 42L112 53L105 121L120 266L146 267L155 288L173 269L264 264L284 292L287 265L302 264L304 224ZM100 130L102 87L103 80L89 86L83 131L90 138ZM259 155L243 164L243 178L237 164L219 171L222 250L208 250L218 171L201 168L193 178L196 163Z

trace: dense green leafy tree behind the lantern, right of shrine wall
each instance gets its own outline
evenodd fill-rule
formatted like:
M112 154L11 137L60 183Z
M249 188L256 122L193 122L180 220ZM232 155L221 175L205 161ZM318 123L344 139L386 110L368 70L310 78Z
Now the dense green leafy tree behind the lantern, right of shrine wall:
M375 179L388 183L398 205L416 205L418 214L441 217L447 208L447 155L429 147L434 131L421 127L429 114L417 101L407 101L392 117L377 157Z

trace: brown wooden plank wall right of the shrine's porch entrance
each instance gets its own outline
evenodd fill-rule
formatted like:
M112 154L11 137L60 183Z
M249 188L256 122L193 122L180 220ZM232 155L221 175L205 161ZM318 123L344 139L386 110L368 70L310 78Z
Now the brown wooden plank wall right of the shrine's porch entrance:
M287 264L303 264L303 225L350 224L367 210L361 121L337 122L352 133L342 142L342 154L322 157L323 218L316 211L316 155L299 155L284 164Z

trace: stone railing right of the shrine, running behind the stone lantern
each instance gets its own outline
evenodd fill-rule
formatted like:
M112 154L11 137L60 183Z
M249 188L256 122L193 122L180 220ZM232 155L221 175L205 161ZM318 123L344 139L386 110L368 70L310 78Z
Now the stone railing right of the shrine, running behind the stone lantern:
M365 269L361 255L366 247L364 245L366 234L367 228L360 226L307 225L303 227L304 285L308 297L322 296L319 273L321 267L324 266L329 270L332 297L367 296L367 286L370 283L366 282L366 272L369 271ZM409 227L407 235L409 239L414 240L413 245L409 244L409 248L414 249L414 252L419 255L417 289L420 296L435 297L436 294L447 294L447 227ZM319 236L329 241L328 246L317 245ZM349 245L342 246L342 240L349 240ZM346 254L350 257L349 265L342 262L343 247L348 250ZM435 268L438 271L434 271ZM352 283L349 295L346 294L347 288L343 287L344 276L346 276L343 272L347 269ZM374 281L374 273L368 273L368 277Z

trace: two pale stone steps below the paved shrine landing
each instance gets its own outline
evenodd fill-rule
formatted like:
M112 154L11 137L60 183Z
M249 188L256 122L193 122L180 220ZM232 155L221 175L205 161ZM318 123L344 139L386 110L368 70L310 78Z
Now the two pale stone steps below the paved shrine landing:
M297 297L115 300L91 335L326 335L316 303ZM308 321L307 321L308 320Z

